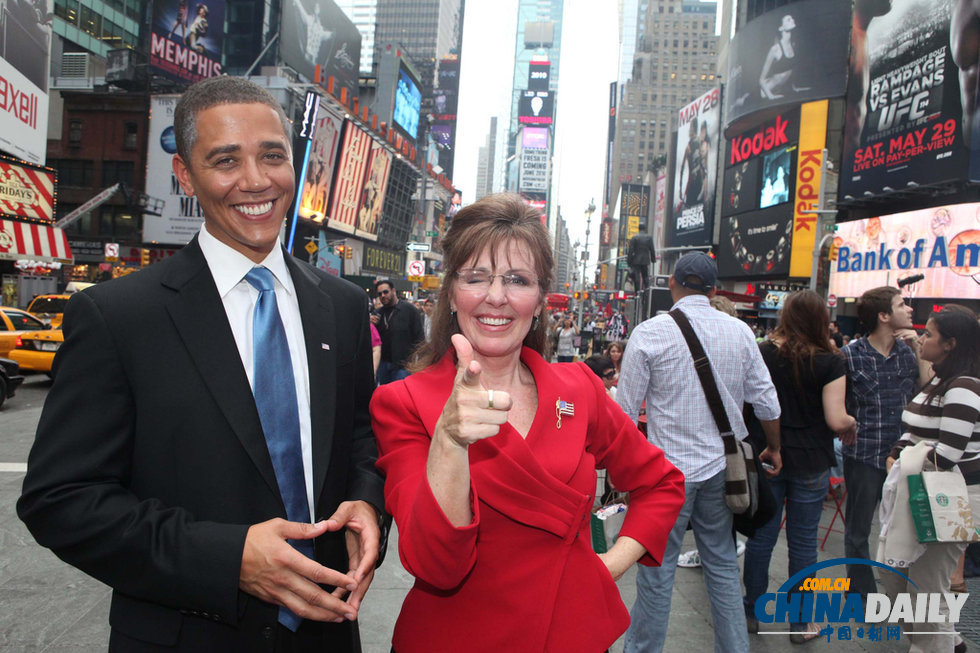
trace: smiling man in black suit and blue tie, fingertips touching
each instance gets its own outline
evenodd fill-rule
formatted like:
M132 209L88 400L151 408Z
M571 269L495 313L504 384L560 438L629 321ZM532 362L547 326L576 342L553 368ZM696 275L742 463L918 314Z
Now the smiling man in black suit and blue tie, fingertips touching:
M204 226L68 303L18 514L113 588L112 650L358 651L383 527L363 291L279 243L295 183L268 92L211 78L174 117Z

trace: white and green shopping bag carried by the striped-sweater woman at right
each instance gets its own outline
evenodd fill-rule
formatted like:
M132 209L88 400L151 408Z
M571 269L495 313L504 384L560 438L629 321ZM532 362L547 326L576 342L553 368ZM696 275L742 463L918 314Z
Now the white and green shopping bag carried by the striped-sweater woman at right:
M936 450L933 449L933 464ZM980 528L973 520L970 495L958 467L949 471L909 474L909 510L915 534L922 544L930 542L980 542Z

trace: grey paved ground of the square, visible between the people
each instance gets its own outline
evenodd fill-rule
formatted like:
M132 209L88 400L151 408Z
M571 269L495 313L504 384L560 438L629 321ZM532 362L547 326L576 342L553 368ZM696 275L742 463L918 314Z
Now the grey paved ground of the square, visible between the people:
M17 519L14 502L20 494L27 454L50 382L44 376L30 376L24 386L0 411L0 650L16 651L99 651L108 641L109 590L84 574L65 565L38 547ZM823 524L830 523L833 508L824 506ZM826 551L820 559L843 555L842 525L834 525ZM824 529L820 535L823 537ZM688 534L689 540L692 539ZM693 548L693 544L691 545ZM399 606L411 577L401 568L397 556L397 534L367 595L361 612L361 635L369 653L387 653ZM773 555L770 588L786 578L786 542L781 538ZM828 571L833 571L828 570ZM980 597L980 579L968 579L972 592ZM634 573L620 581L623 600L632 605ZM970 638L970 650L980 651L980 600L971 598L965 608L961 628ZM434 616L435 618L435 616ZM776 628L785 630L784 627ZM793 647L786 635L753 636L753 651L788 651ZM678 569L671 610L667 651L709 651L713 644L711 613L701 571ZM903 642L828 643L826 639L809 644L808 651L906 651ZM460 643L465 651L465 643ZM514 650L520 650L515 643ZM613 651L622 651L622 641Z

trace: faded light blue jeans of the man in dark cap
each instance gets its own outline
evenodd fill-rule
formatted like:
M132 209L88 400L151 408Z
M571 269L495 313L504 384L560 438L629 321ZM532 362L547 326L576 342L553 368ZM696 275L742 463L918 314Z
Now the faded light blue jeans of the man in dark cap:
M684 541L688 521L701 554L704 583L711 599L711 621L717 653L744 653L749 650L745 613L739 597L738 558L732 540L732 511L725 504L725 471L704 481L684 483L684 507L670 531L663 565L639 565L636 574L636 603L630 612L626 631L627 653L657 653L663 650L670 618L670 598L674 590L677 555Z

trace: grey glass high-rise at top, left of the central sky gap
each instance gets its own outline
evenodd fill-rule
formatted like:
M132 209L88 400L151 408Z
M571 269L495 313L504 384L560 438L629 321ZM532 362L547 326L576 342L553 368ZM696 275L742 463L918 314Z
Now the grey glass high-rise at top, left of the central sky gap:
M422 112L432 112L437 63L458 53L462 34L463 0L377 0L374 59L381 47L394 43L402 48L422 83Z

